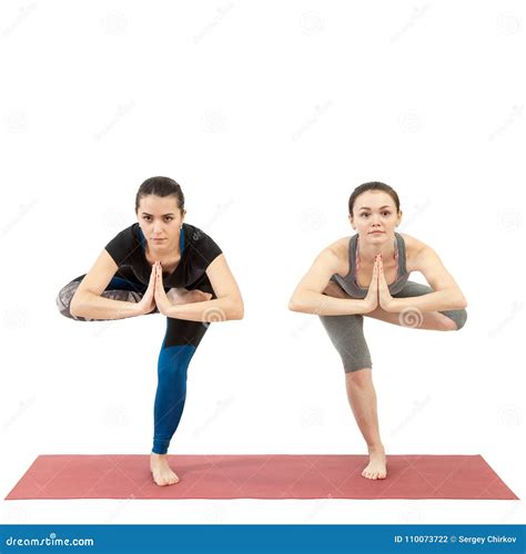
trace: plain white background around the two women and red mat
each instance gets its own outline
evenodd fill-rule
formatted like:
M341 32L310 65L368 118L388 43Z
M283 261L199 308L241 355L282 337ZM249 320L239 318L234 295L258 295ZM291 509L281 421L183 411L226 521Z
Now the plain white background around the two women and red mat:
M176 453L365 453L340 358L287 310L347 199L382 181L398 230L468 300L458 332L365 319L391 454L524 476L525 9L519 1L4 1L0 432L4 497L39 454L151 449L165 320L77 322L54 298L175 178L245 318L212 325ZM417 274L413 280L423 280ZM176 466L175 466L176 470ZM415 476L417 479L417 476ZM3 501L6 523L517 523L512 501Z

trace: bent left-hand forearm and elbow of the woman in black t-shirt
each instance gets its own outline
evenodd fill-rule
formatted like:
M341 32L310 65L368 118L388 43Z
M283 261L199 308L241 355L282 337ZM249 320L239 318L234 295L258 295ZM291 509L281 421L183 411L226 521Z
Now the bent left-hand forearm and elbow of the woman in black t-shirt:
M124 319L141 315L136 302L125 302L100 296L115 275L117 269L118 265L103 249L71 299L70 312L72 316L89 319Z

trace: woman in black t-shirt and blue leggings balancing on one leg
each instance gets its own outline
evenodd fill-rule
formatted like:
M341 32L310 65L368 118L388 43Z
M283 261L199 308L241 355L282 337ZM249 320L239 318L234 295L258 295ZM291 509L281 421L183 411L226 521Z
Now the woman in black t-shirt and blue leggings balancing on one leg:
M57 305L80 321L166 316L150 470L156 484L169 485L179 481L166 452L183 412L190 360L210 322L243 318L243 300L221 248L183 223L184 196L175 181L146 179L135 214L138 223L108 243L88 274L62 288Z

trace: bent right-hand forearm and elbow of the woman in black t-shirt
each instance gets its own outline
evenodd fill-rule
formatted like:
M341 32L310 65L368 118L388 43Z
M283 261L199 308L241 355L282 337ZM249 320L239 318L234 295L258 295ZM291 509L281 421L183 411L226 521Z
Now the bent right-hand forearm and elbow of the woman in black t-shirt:
M244 306L241 291L224 254L220 254L210 264L206 275L218 298L203 302L171 305L163 309L162 314L175 319L203 322L243 319Z

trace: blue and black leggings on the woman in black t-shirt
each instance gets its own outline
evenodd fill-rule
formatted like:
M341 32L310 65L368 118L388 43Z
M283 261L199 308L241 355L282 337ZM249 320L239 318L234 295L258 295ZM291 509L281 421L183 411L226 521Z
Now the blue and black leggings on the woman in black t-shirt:
M87 318L72 316L70 312L71 298L84 276L81 275L65 285L57 296L60 312L79 321L90 321ZM121 266L101 296L138 302L146 288L136 280L131 267ZM216 298L212 287L203 284L196 288ZM155 312L159 314L156 308L152 314ZM152 452L156 454L168 452L170 441L181 421L186 399L188 367L209 326L208 322L166 318L166 332L158 359L158 388L153 407Z

